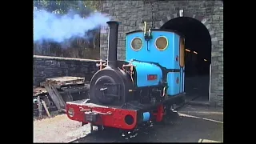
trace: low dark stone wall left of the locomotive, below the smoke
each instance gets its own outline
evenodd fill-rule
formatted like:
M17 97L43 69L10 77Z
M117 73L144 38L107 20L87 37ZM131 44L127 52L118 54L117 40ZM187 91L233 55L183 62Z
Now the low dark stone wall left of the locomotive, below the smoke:
M79 58L59 58L34 55L34 86L46 78L74 76L86 78L90 81L93 74L99 69L98 60Z

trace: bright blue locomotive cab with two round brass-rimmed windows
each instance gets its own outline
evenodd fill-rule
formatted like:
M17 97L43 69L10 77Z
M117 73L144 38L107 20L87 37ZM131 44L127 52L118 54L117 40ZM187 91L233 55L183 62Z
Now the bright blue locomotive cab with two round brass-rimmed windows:
M172 30L158 29L151 30L151 37L146 41L142 30L126 34L126 61L135 59L158 63L167 70L167 94L184 93L184 38Z

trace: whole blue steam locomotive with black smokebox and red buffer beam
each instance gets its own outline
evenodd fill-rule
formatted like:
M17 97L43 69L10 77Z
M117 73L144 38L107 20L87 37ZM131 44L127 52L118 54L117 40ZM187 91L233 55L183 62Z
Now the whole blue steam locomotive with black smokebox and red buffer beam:
M91 78L89 99L66 102L68 118L91 126L137 130L161 122L173 104L185 102L185 47L172 30L126 34L126 60L117 60L118 25L110 21L106 63Z

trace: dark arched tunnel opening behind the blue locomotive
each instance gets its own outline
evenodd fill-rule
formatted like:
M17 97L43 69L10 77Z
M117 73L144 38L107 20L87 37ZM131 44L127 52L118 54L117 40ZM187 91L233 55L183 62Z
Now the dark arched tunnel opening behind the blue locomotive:
M202 22L195 18L171 19L161 29L176 30L185 37L186 98L209 101L211 38Z

